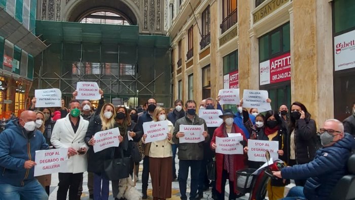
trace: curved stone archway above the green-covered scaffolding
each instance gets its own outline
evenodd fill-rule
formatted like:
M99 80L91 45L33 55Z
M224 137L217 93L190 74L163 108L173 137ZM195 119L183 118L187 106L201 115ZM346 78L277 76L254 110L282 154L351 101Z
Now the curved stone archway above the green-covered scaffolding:
M120 13L130 20L132 25L138 25L141 30L142 16L137 5L131 0L80 0L68 1L62 12L63 21L78 21L83 16L95 11L112 11Z

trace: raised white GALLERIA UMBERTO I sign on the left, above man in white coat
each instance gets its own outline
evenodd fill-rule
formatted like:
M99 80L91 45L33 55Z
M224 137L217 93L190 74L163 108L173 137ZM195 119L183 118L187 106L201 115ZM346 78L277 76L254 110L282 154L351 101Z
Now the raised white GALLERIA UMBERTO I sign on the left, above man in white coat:
M36 89L34 90L34 97L37 98L35 107L62 107L61 97L62 93L57 88L52 89Z

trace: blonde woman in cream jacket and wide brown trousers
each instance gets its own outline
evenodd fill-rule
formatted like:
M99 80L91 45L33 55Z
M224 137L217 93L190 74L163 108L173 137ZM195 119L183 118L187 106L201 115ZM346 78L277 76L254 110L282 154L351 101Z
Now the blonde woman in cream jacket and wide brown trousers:
M172 132L173 124L166 119L165 109L157 107L153 113L153 121L167 121L168 130L166 139L150 144L149 169L152 178L153 200L171 198L172 182ZM145 142L147 134L142 140ZM149 143L148 143L149 144Z

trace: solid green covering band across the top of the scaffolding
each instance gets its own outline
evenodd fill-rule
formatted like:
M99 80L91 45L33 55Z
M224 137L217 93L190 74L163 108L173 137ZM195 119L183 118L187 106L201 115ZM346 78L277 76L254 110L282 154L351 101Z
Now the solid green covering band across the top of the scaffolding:
M36 21L36 33L43 40L66 43L126 44L170 47L166 36L139 35L135 25L89 24L78 22Z

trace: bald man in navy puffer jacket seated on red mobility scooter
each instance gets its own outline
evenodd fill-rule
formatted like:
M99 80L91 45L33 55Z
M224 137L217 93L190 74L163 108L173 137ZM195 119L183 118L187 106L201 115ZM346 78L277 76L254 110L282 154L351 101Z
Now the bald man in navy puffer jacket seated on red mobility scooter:
M323 148L316 151L312 161L273 172L282 179L307 179L304 187L291 188L282 199L328 199L338 181L346 175L355 139L344 133L343 124L336 119L327 120L320 130Z

